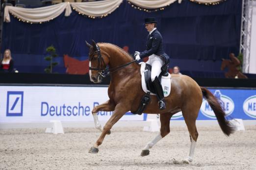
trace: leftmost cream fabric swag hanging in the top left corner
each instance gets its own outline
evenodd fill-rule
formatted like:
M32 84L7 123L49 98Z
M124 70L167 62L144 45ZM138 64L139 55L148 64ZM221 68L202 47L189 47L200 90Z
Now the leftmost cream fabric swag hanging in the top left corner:
M64 10L65 16L70 16L72 10L69 2L63 2L56 5L41 7L41 8L20 8L15 6L6 6L4 8L5 22L10 22L10 14L28 22L38 23L53 20L58 17Z

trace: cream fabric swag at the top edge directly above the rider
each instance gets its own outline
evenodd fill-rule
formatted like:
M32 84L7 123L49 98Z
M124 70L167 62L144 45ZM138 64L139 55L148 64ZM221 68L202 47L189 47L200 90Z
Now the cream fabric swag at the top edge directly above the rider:
M162 8L167 5L170 5L171 3L177 1L177 0L128 0L132 4L145 8L145 9L156 9L156 8ZM179 3L181 0L179 0Z

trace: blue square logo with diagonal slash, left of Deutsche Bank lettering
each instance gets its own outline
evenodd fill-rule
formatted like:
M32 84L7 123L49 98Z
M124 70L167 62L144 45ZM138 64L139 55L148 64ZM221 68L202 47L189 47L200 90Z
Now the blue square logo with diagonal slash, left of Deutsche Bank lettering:
M23 91L7 91L6 116L22 116Z

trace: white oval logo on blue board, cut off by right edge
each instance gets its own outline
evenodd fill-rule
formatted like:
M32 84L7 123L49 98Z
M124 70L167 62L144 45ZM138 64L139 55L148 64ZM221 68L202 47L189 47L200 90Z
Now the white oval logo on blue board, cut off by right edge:
M243 104L244 112L256 119L256 95L248 97Z

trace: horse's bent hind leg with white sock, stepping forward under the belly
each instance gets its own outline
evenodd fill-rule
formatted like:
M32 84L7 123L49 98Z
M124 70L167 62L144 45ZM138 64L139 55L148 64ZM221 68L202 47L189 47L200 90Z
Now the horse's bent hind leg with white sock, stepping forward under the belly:
M168 133L170 133L171 117L172 117L171 113L160 114L160 122L161 122L160 133L158 133L157 136L145 146L145 148L141 151L141 154L140 154L141 156L149 155L149 153L150 153L149 149L151 149L164 136L166 136Z

